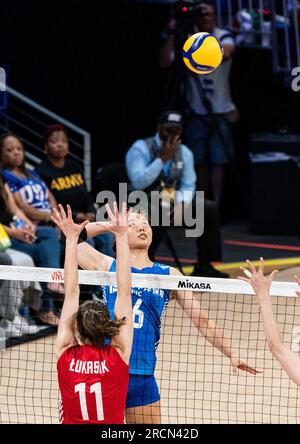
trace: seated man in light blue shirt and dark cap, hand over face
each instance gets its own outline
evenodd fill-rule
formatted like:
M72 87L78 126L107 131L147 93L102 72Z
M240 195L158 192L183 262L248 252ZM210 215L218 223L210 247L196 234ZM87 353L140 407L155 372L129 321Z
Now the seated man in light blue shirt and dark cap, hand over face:
M135 190L180 191L185 204L195 204L196 173L194 157L190 149L181 144L182 115L167 111L160 119L157 134L145 140L137 140L126 154L127 174ZM189 193L186 193L189 192ZM176 201L180 206L182 201ZM176 216L175 216L176 217ZM163 227L153 227L153 241L149 253L154 260L162 238ZM204 233L196 238L197 259L193 275L228 277L212 266L222 260L218 209L214 202L204 200Z

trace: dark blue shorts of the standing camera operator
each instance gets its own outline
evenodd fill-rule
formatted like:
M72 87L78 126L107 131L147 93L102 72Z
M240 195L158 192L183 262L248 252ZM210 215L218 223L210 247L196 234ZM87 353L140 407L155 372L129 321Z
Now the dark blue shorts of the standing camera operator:
M213 129L210 116L187 116L184 143L193 151L196 165L224 165L234 158L232 124L222 114L215 114L215 119L226 141L228 153Z

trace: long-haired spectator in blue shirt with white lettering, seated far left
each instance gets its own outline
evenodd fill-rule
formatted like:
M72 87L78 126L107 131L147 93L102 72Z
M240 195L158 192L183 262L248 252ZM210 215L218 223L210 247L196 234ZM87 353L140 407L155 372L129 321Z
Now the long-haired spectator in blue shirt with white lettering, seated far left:
M39 225L48 225L56 201L40 176L25 166L23 143L13 134L0 138L0 160L3 176L17 205ZM53 228L54 229L54 228Z

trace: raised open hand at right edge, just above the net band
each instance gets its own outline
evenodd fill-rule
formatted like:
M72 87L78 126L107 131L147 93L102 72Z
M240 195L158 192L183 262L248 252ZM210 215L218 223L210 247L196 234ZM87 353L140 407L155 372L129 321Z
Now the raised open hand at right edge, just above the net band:
M269 297L270 287L275 274L278 273L278 270L274 270L268 276L264 276L264 260L262 257L260 258L259 267L257 270L249 260L246 262L250 268L250 271L244 267L240 267L247 277L239 276L238 279L250 284L259 298Z

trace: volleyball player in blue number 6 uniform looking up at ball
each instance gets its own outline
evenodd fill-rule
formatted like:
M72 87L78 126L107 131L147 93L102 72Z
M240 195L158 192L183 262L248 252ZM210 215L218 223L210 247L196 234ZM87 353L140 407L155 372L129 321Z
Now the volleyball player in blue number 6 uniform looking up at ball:
M129 217L128 244L131 253L132 273L159 275L181 275L170 266L152 262L148 249L152 241L152 230L147 218L139 213ZM105 230L105 224L90 223L86 236L91 238ZM81 268L97 271L115 271L115 260L105 256L86 242L78 245L78 259ZM175 298L194 325L205 338L231 360L234 373L238 369L256 374L257 370L243 362L231 349L199 301L191 291L177 290ZM104 301L113 314L116 288L104 288ZM160 339L161 319L170 300L170 290L133 288L132 306L134 313L134 338L130 358L130 382L127 396L126 420L128 423L160 423L160 395L154 377L156 349Z

